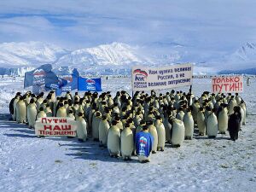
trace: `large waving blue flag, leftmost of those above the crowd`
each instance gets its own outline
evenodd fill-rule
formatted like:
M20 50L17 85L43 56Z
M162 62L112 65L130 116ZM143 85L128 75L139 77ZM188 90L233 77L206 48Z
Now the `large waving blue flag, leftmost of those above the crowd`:
M57 84L58 77L51 71L52 67L50 64L40 66L31 72L25 73L24 88L32 85L44 85L44 84Z

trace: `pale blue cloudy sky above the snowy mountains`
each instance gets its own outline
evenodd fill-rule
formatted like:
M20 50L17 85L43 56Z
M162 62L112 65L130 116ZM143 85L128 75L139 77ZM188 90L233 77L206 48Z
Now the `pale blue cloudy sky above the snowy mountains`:
M1 0L0 43L122 42L233 51L256 42L255 0Z

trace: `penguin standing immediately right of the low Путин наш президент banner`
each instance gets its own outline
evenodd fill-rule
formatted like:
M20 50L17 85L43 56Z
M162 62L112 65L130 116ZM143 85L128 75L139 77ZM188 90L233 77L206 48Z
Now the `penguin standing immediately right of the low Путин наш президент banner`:
M77 136L79 138L79 142L85 142L87 140L87 130L86 130L86 122L84 120L84 114L79 112L78 118L76 119L77 123Z

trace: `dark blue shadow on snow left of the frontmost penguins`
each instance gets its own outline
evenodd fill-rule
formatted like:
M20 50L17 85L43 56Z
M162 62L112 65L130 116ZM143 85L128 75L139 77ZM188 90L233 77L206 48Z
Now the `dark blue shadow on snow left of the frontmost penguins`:
M123 160L121 156L119 158L110 157L108 154L108 148L99 147L99 143L91 141L90 139L84 143L80 143L76 138L73 139L73 143L61 144L61 147L67 148L74 153L68 153L68 156L73 156L74 159L82 160L100 160L105 162L126 162L126 163L138 163L136 156L132 156L132 160Z

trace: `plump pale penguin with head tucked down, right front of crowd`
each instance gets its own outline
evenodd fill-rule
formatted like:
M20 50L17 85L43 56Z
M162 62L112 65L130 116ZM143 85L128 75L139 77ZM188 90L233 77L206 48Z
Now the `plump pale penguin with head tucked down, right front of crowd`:
M183 145L185 138L185 127L183 121L172 118L172 145L174 147L180 147Z

